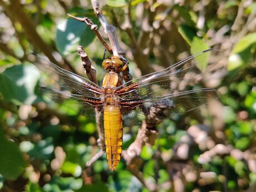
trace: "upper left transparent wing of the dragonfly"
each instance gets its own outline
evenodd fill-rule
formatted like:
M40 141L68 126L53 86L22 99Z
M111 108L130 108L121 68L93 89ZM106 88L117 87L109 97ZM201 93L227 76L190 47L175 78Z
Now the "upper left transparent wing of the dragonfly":
M63 89L87 97L100 97L101 88L90 80L64 70L36 53L29 53L27 57L29 61L55 80Z

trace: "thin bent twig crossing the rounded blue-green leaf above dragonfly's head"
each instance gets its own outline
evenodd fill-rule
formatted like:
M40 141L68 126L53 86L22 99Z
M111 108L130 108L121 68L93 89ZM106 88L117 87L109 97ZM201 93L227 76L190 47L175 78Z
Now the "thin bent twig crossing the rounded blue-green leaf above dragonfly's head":
M84 18L80 18L80 17L75 17L72 16L71 14L67 15L73 19L76 19L77 21L86 23L87 26L89 26L92 30L92 32L99 38L99 40L101 41L102 45L106 48L107 51L109 51L111 54L113 54L113 51L111 49L111 47L109 45L107 45L107 42L104 40L104 38L100 35L100 32L98 31L98 26L97 24L94 24L89 18L84 17Z

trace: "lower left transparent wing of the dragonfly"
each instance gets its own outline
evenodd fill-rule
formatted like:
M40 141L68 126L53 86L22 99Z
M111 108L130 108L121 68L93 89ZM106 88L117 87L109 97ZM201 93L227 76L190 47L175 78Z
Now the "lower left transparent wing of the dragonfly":
M49 97L51 100L61 103L69 109L75 111L77 114L86 116L95 120L95 109L102 111L101 100L94 97L85 97L82 95L72 94L67 91L60 91L56 89L41 87L43 95Z

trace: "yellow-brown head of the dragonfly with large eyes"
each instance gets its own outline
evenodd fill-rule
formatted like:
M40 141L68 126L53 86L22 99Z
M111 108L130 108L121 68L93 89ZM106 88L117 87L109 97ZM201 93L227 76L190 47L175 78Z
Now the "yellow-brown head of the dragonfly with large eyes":
M102 68L107 71L122 72L126 67L127 65L124 65L117 56L111 56L102 62Z

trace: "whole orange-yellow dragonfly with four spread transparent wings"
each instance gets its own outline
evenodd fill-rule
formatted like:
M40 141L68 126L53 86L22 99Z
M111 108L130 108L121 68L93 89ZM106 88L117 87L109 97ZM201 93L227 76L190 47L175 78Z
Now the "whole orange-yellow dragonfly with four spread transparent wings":
M156 125L221 96L213 88L191 89L191 83L198 81L221 58L222 51L209 49L164 70L124 82L122 71L127 65L119 57L111 56L102 62L107 73L100 86L58 67L36 53L28 55L29 61L61 87L41 87L47 96L65 100L65 104L80 115L95 118L95 111L103 115L110 170L116 170L121 159L123 123L140 124L145 120L148 124Z

